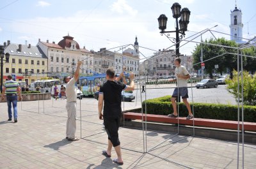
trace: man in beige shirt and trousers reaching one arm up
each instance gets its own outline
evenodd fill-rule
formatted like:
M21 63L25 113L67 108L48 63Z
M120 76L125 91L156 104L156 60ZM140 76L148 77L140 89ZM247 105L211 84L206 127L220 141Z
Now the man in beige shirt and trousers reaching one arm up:
M76 72L74 77L64 77L63 81L66 85L66 96L67 96L67 129L66 129L66 138L70 141L79 140L76 137L76 100L77 100L77 92L76 92L76 82L79 79L79 70L80 66L83 62L77 62Z

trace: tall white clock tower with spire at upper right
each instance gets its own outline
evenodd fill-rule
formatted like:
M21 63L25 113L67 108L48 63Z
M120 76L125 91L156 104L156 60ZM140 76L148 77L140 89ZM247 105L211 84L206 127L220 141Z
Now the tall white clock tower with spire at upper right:
M230 13L230 40L236 41L236 43L243 43L243 23L242 23L242 11L237 9L237 6Z

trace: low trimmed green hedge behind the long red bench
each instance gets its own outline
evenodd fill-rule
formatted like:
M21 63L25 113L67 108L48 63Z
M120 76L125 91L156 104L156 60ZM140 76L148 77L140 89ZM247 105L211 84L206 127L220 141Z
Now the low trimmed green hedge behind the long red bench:
M147 114L168 115L173 112L170 102L171 96L147 99ZM192 104L191 110L192 110ZM194 103L194 115L202 119L219 119L226 121L237 121L237 106L213 103ZM145 101L143 101L143 112L145 112ZM241 121L240 110L240 121ZM184 103L179 103L179 116L186 117L188 110ZM256 106L244 106L244 121L256 122Z

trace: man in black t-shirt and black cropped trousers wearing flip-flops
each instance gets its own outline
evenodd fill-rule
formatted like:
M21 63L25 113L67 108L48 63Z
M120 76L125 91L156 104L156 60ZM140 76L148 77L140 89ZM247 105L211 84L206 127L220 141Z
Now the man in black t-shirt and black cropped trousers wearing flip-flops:
M123 73L120 76L124 76ZM122 77L121 77L122 78ZM123 159L121 154L120 141L118 138L118 128L120 126L120 119L122 115L121 101L122 90L133 91L134 90L134 73L130 74L130 85L125 85L122 82L115 81L115 70L108 68L106 71L106 79L108 80L99 91L99 119L104 119L104 125L106 132L108 133L108 149L102 151L102 154L108 158L111 157L111 149L115 148L117 157L113 159L113 162L118 165L123 165ZM102 107L104 101L104 110L102 114Z

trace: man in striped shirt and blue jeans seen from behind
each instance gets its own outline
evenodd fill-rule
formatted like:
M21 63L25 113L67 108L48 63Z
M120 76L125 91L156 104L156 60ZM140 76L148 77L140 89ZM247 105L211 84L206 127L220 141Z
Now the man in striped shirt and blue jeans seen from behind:
M4 83L3 92L2 92L2 100L4 99L4 93L6 93L6 102L8 105L8 121L12 121L12 107L13 107L13 117L14 122L18 122L18 112L17 112L17 93L19 94L19 100L22 100L22 96L20 94L19 83L12 80L12 75L7 76L8 81Z

